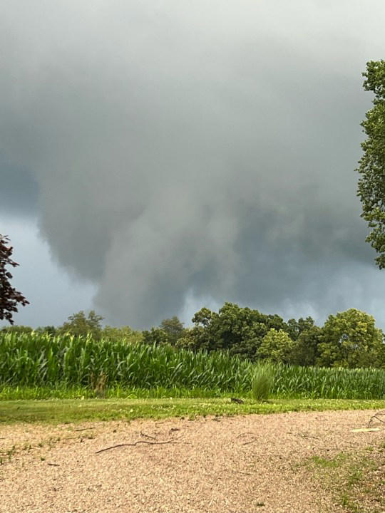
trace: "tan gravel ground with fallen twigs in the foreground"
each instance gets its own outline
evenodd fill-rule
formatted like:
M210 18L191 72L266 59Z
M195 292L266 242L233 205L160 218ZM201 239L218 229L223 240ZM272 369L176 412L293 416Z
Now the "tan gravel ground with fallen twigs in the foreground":
M384 442L374 413L3 426L0 512L346 512L304 462Z

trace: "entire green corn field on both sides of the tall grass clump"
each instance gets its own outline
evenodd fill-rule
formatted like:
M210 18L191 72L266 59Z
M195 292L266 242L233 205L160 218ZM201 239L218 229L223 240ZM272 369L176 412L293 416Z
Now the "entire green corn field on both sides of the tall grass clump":
M224 352L95 341L71 335L0 334L0 387L200 389L249 395L255 364ZM379 369L274 366L280 398L385 398Z

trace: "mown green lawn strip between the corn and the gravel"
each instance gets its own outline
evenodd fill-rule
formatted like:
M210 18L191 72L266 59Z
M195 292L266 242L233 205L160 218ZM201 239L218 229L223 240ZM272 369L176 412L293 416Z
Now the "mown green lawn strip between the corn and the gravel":
M246 399L241 405L231 403L230 398L2 400L0 425L364 409L384 410L385 400L272 399L258 403Z

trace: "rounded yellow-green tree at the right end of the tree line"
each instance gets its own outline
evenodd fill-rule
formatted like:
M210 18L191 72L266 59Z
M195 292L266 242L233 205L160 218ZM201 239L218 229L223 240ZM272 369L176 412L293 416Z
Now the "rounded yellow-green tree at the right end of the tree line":
M320 339L320 366L385 368L383 333L363 311L349 309L329 316Z

